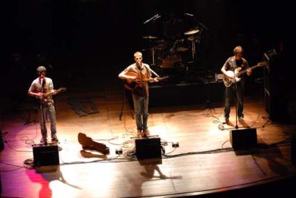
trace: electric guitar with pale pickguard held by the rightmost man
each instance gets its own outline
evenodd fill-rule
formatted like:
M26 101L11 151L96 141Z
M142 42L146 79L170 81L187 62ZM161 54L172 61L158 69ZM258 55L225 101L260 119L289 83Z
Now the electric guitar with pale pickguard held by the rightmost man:
M252 66L250 69L254 69L254 68L258 68L258 67L262 67L262 66L266 66L266 62L263 61L263 62L260 62L260 63L257 63L256 66ZM227 75L224 74L224 78L223 78L223 82L224 82L224 85L226 87L229 87L231 86L231 84L233 84L233 82L240 82L240 75L244 74L244 73L247 73L247 70L249 68L245 69L245 70L242 70L242 68L236 68L233 71L231 70L228 70L226 71L227 75L231 76L231 77L228 77ZM234 80L235 79L235 80Z

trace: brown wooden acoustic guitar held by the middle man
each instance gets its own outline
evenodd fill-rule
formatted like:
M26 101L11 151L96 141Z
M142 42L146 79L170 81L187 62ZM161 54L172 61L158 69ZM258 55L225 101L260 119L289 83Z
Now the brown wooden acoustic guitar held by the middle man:
M133 73L133 72L127 72L125 75L129 75L131 77L136 77L136 79L132 80L132 79L124 79L123 80L123 84L125 86L126 89L128 90L133 90L136 89L138 86L140 86L141 84L145 83L145 82L153 82L153 78L145 78L144 76L139 76L137 73ZM156 79L158 81L163 80L163 79L167 79L169 78L169 76L165 76L165 77L156 77Z

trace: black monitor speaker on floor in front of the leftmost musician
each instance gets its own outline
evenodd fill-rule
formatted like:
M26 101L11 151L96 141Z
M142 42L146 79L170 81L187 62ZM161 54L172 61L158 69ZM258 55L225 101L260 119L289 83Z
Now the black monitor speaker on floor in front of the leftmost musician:
M59 165L59 147L57 145L33 146L33 158L35 167Z

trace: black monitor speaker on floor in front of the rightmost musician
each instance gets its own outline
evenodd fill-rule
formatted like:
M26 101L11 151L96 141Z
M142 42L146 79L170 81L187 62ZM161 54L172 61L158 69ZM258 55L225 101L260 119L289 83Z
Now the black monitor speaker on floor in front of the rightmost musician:
M256 128L231 130L230 140L234 151L255 148L257 146Z

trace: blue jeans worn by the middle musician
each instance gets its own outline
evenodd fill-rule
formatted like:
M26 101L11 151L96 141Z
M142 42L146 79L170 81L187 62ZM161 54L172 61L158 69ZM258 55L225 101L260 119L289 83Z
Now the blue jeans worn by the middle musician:
M132 100L134 101L134 113L136 114L136 124L138 130L148 129L148 100L147 96L137 96L132 94ZM143 116L142 116L143 109Z

